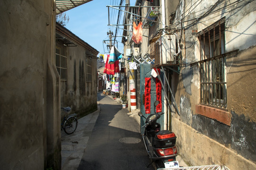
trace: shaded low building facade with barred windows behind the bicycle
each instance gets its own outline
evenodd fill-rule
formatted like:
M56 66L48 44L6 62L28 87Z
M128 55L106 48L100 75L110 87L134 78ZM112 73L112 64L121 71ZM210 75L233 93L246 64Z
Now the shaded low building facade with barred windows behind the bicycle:
M60 104L82 116L97 109L97 54L88 43L56 23L56 68ZM63 116L63 115L62 115Z

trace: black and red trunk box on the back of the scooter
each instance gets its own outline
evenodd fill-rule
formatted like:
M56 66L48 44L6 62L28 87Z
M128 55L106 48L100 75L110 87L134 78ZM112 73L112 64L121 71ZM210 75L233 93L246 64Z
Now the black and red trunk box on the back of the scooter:
M169 130L161 130L154 136L155 148L167 148L176 144L176 136Z

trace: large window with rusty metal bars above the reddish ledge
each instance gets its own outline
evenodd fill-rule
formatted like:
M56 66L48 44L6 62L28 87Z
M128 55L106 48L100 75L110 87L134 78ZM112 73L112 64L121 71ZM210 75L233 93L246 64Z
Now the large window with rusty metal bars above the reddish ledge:
M200 42L200 104L227 108L225 20L198 33Z

